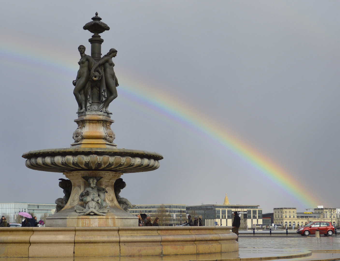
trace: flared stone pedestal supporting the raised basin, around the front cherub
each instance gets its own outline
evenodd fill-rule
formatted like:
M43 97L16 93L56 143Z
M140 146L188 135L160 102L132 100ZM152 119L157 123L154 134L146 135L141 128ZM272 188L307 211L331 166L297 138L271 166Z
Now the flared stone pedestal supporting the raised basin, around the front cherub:
M124 211L117 202L114 183L122 173L113 171L71 171L65 172L64 175L72 182L71 196L65 207L59 212L46 218L46 227L134 227L138 226L136 216ZM107 213L103 215L83 215L77 213L76 209L86 206L79 200L80 193L88 186L82 176L103 177L97 182L99 187L103 187L108 193L105 193L105 202L108 205L105 208ZM75 208L76 207L76 208Z

